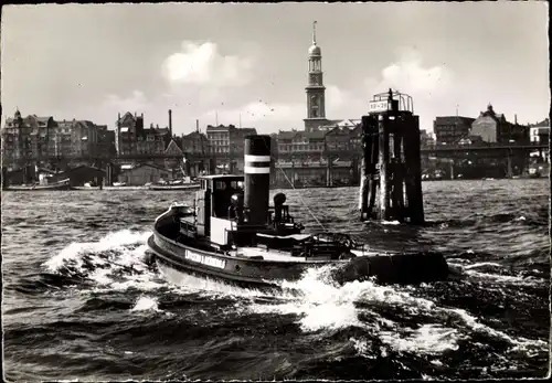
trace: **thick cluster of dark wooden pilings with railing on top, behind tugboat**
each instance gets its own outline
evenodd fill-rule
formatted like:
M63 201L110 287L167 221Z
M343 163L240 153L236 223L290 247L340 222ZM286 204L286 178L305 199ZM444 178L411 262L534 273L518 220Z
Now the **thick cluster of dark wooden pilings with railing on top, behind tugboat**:
M420 123L413 115L412 99L406 103L405 95L399 96L404 110L399 109L400 103L390 91L378 95L379 99L374 96L378 111L362 117L364 158L359 208L361 219L418 224L424 222Z

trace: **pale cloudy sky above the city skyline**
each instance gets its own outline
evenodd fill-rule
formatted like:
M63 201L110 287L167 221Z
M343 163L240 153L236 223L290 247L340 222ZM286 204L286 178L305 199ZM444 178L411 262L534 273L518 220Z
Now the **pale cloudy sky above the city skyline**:
M304 129L317 21L326 117L361 118L389 87L408 94L421 129L436 116L508 120L550 113L548 3L161 3L7 6L4 116L117 114L188 134L206 125L259 134Z

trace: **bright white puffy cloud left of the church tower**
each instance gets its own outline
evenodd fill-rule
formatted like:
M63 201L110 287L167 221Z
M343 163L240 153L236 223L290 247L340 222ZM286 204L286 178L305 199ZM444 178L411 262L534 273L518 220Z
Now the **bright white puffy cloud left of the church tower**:
M212 42L182 42L182 51L163 62L163 75L173 84L241 86L251 81L253 63L247 57L221 55Z

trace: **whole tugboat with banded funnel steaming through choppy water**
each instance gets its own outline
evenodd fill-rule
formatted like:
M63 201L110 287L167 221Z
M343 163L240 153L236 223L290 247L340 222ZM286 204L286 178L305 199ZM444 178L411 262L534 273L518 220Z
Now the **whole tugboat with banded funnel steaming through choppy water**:
M325 265L336 266L333 277L341 284L447 278L440 254L378 255L347 234L304 234L284 193L269 206L270 137L246 137L244 160L244 175L202 175L193 205L173 203L156 219L148 246L161 270L256 287L297 280Z

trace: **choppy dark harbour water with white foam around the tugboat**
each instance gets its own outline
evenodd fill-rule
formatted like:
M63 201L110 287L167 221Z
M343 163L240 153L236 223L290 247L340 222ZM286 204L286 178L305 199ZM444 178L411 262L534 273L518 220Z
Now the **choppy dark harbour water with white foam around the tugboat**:
M142 263L155 216L190 192L2 194L4 377L467 379L549 370L546 180L424 183L425 227L357 222L355 189L286 191L296 216L380 249L433 248L467 278L284 292ZM291 292L295 291L295 292Z

